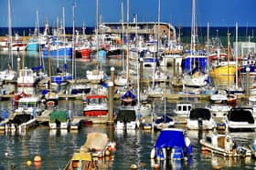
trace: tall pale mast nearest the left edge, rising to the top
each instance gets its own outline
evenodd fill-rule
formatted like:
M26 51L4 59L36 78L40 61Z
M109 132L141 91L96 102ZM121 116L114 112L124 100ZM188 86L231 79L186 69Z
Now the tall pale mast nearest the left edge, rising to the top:
M12 19L11 19L11 0L8 0L8 70L9 66L13 69L14 66L14 58L13 58L13 51L12 51ZM11 65L10 62L11 61Z

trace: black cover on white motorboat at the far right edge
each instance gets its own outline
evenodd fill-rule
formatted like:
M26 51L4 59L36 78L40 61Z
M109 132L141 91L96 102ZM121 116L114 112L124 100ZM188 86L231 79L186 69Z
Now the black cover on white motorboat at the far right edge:
M251 115L250 110L246 109L232 109L229 112L229 121L233 122L248 122L249 124L254 124L254 118Z

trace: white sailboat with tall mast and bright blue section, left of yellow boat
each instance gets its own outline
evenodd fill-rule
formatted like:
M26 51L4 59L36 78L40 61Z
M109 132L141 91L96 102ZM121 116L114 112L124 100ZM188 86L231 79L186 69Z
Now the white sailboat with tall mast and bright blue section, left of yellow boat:
M190 51L182 60L182 67L187 71L183 75L183 85L190 87L202 87L207 85L208 74L207 55L204 50L196 50L197 45L197 18L196 18L196 0L192 0L192 26L191 26L191 45Z

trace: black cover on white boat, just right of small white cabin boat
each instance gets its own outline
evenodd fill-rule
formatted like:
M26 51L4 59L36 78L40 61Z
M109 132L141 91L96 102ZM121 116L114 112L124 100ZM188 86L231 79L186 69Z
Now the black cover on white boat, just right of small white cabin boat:
M207 108L195 108L190 111L189 119L190 120L209 120L210 119L210 112Z

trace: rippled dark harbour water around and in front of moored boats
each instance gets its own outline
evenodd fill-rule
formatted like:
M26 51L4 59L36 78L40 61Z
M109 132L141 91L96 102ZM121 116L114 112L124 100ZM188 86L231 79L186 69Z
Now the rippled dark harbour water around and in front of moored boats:
M37 64L37 54L24 55L27 67ZM16 55L15 55L16 57ZM6 54L0 54L1 70L5 68ZM48 58L45 58L45 64L48 65ZM63 61L62 61L63 62ZM109 73L110 67L115 65L116 70L121 66L116 66L120 60L102 61L102 68ZM56 65L56 60L53 60ZM71 61L69 61L69 66ZM119 64L120 65L120 64ZM76 70L78 77L85 75L87 68L95 66L87 61L78 60ZM47 66L46 66L47 68ZM69 67L71 69L71 66ZM172 70L172 69L170 69ZM155 103L155 113L163 113L164 101L158 99L152 101ZM206 105L198 101L197 105ZM161 105L159 105L159 103ZM166 113L172 115L172 109L175 102L167 102ZM59 102L60 109L70 110L73 115L81 115L82 102L78 100L63 100ZM4 109L12 109L11 101L0 102L0 113ZM177 125L177 127L181 125ZM136 130L136 131L116 131L108 125L87 125L80 131L49 131L48 126L39 125L35 129L27 131L25 134L0 134L0 169L42 169L42 170L59 170L68 162L70 156L80 148L86 141L86 136L91 132L103 132L109 135L110 139L117 143L117 150L112 156L112 160L99 160L99 163L105 165L102 169L130 169L132 164L141 165L141 169L153 169L150 160L150 152L155 144L159 132ZM219 155L212 155L201 151L199 140L207 132L187 131L188 137L193 145L193 154L187 161L176 161L165 163L162 162L161 169L213 169L219 165L221 169L255 169L256 159L250 158L229 158L226 159ZM250 145L252 139L256 136L255 132L230 133L236 142ZM34 156L40 155L42 162L34 164ZM28 166L27 161L31 160L32 165Z

